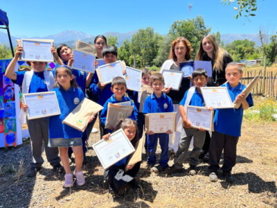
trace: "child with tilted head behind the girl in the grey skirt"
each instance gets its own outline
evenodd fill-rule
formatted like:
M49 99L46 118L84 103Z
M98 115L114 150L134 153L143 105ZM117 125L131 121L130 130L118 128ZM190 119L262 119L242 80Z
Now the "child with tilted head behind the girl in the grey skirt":
M71 67L71 65L74 62L73 59L73 53L71 48L69 48L69 46L67 46L66 44L61 44L60 46L57 47L57 55L58 57L57 62L62 65L62 64L66 64L69 67ZM80 70L76 70L76 69L71 69L71 73L74 76L74 79L76 81L76 83L78 84L78 87L80 87L82 89L83 94L86 94L86 87L88 87L90 81L91 81L91 73L89 73L89 76L87 75L87 72L85 71L80 71ZM82 150L84 152L84 163L87 162L87 157L86 157L86 153L87 153L87 146L86 146L86 141L87 139L89 139L88 137L88 133L87 133L87 129L84 130L84 132L82 133ZM69 148L69 157L71 157L72 154L72 149Z

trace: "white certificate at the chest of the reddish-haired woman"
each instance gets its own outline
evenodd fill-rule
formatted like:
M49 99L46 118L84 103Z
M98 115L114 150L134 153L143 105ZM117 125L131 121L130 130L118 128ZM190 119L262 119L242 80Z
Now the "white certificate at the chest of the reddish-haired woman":
M166 83L164 87L172 87L173 90L178 91L181 85L184 71L163 70L162 74Z

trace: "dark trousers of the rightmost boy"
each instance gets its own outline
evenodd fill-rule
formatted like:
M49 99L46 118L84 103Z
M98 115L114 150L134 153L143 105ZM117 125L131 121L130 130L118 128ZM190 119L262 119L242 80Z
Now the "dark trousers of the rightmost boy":
M217 172L220 168L220 157L224 150L224 163L222 171L231 173L235 166L235 157L237 156L238 138L231 135L224 135L220 132L213 132L210 144L210 166L209 171Z

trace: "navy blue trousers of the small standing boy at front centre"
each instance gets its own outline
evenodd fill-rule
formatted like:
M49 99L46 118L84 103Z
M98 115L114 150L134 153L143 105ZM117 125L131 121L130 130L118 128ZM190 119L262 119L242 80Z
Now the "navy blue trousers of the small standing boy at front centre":
M154 134L154 135L147 135L147 143L148 143L148 158L147 162L148 164L156 164L156 150L157 150L157 144L158 144L158 138L159 138L159 144L161 146L161 158L159 164L166 168L168 167L168 134L161 133L161 134Z

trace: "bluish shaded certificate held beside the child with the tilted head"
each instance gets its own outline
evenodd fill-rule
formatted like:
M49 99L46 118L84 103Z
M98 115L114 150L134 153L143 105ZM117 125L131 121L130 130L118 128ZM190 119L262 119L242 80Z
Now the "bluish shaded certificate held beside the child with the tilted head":
M72 69L94 73L94 61L96 60L94 55L84 51L73 50L73 58Z

